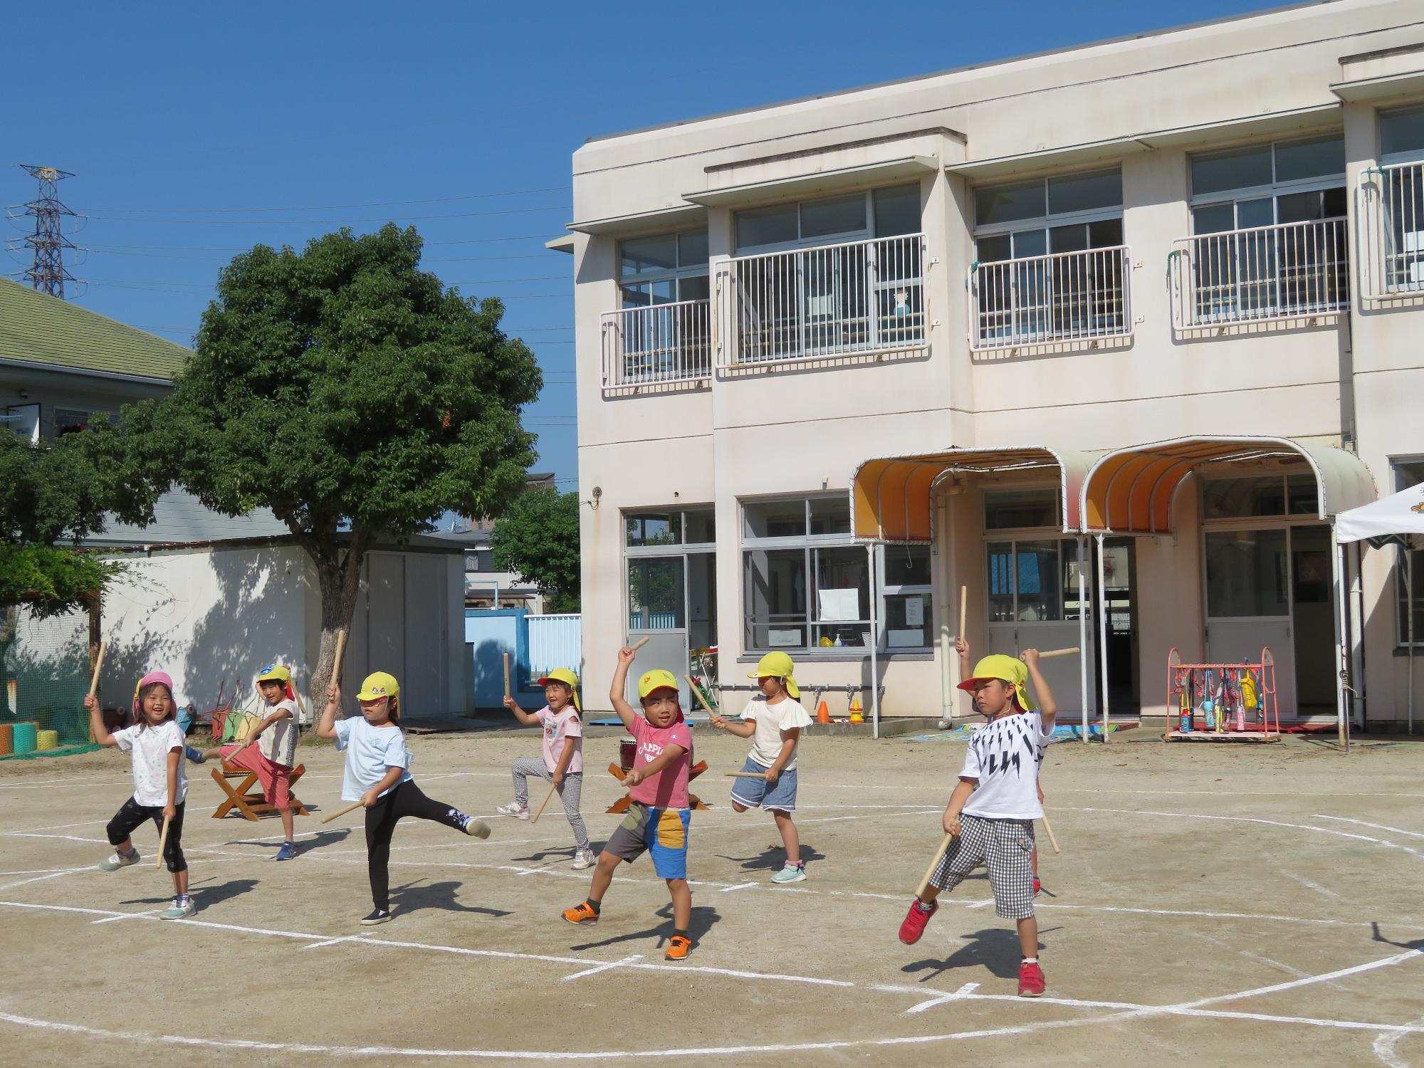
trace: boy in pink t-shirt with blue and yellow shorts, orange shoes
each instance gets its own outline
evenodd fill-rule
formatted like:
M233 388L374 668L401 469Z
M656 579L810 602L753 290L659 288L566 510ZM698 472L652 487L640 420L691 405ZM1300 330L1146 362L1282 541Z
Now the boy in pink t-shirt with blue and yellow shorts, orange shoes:
M634 651L618 651L608 699L628 733L638 743L632 770L624 779L629 787L628 816L608 839L594 869L588 899L564 910L570 923L598 923L604 894L614 880L619 862L634 862L645 852L652 854L652 869L668 883L672 896L672 938L664 960L684 960L692 948L688 924L692 921L692 891L688 890L688 766L692 760L692 731L682 719L678 681L671 671L644 672L638 679L642 716L624 699L628 668ZM644 718L646 716L646 718Z

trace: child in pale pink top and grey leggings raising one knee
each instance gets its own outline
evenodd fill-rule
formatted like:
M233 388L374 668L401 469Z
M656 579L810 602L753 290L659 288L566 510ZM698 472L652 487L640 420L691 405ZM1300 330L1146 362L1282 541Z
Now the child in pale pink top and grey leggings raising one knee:
M525 712L514 698L504 698L504 708L525 726L535 723L544 728L544 756L538 760L521 756L511 766L514 775L514 800L501 805L496 812L501 816L527 820L530 817L528 776L537 775L544 782L554 783L564 815L574 829L574 867L582 870L594 866L594 850L588 847L588 827L578 812L578 799L584 790L584 728L578 721L578 675L568 668L555 668L538 681L544 688L544 705L538 712Z

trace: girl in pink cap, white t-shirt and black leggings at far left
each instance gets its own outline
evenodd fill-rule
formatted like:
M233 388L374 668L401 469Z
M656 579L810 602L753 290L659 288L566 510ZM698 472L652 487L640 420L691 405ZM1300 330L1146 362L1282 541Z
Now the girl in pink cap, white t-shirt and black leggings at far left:
M181 920L192 916L194 904L188 897L188 862L182 854L182 812L188 796L188 769L184 765L184 736L175 722L174 682L161 671L151 671L138 681L134 689L134 726L108 732L98 701L84 698L90 713L90 729L100 745L114 746L120 752L131 752L134 760L134 796L108 822L108 843L112 856L100 862L101 871L117 871L138 863L132 833L148 820L162 834L168 822L168 839L164 842L164 862L174 879L174 903L159 916L165 920Z

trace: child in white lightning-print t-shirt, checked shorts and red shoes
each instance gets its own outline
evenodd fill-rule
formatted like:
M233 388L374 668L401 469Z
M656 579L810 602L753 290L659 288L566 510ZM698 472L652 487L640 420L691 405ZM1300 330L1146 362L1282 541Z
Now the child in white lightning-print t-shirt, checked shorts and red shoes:
M1035 708L1027 684L1038 695ZM953 890L980 864L988 867L994 890L994 911L1018 924L1022 963L1018 967L1020 997L1044 993L1044 971L1038 967L1038 921L1034 918L1034 884L1030 854L1034 850L1034 820L1044 815L1038 803L1038 765L1052 740L1058 706L1038 671L1038 649L1024 649L1021 659L985 656L974 665L973 678L960 689L988 722L975 728L964 753L960 780L944 809L944 833L953 834L944 857L930 876L924 893L910 903L900 924L900 941L920 941L930 917L938 910L940 890Z

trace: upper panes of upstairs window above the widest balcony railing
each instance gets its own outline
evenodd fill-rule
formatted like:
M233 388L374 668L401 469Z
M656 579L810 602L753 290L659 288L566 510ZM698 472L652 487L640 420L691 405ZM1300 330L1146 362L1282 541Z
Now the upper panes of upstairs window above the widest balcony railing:
M920 187L823 197L736 214L736 251L772 252L920 232Z

